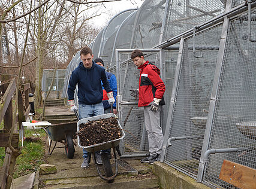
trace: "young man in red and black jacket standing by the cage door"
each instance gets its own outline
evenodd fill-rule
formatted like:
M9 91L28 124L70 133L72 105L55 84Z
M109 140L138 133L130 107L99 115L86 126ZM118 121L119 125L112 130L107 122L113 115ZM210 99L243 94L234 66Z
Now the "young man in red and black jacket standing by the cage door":
M144 106L144 123L149 140L149 156L140 161L153 164L160 160L162 142L164 141L160 126L160 109L161 105L165 105L163 99L165 85L159 77L160 70L144 60L141 50L132 51L131 59L140 69L139 88L130 90L131 96L138 96L138 107Z

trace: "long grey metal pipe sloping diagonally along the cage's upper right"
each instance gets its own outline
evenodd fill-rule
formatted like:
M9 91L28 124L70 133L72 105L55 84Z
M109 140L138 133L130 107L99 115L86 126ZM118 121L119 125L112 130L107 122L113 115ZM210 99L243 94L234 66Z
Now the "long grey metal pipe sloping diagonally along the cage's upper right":
M256 3L252 2L252 7L255 7L255 6L256 6ZM212 26L212 25L214 25L214 24L216 24L218 22L223 21L225 16L227 16L229 18L229 17L232 17L232 16L234 16L234 15L236 15L238 13L241 13L242 11L245 11L245 10L247 10L247 7L245 7L244 4L238 5L237 7L231 9L230 11L227 11L225 13L219 14L218 16L208 20L207 22L204 22L201 25L198 25L197 26L198 31L201 31L201 30L203 30L205 28L209 28L209 26ZM181 37L185 38L186 36L192 35L192 33L193 33L193 28L189 29L188 31L185 31L183 33L180 33L179 35L176 35L173 38L167 39L167 41L162 42L161 44L158 44L158 45L156 45L153 48L165 48L165 47L168 47L171 44L175 44L176 42L179 42Z

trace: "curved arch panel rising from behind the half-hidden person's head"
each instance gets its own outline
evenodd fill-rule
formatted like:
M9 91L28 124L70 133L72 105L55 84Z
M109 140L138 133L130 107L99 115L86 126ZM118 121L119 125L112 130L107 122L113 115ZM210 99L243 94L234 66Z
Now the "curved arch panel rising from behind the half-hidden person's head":
M131 14L134 10L127 10L122 13L119 13L115 17L113 17L112 20L110 20L109 25L107 25L103 41L101 45L101 51L98 55L103 59L104 63L106 64L106 68L110 66L112 51L113 51L113 45L115 42L116 33L118 32L119 27L121 26L122 22Z

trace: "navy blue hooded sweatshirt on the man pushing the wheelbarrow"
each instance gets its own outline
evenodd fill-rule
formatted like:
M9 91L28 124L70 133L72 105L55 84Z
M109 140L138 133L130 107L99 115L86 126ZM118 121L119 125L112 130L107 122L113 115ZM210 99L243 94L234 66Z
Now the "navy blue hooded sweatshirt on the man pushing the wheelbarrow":
M112 92L109 81L105 74L105 69L92 61L92 67L86 69L83 62L79 63L71 74L68 84L68 100L74 99L76 84L78 85L79 104L92 105L103 100L103 87L107 93Z

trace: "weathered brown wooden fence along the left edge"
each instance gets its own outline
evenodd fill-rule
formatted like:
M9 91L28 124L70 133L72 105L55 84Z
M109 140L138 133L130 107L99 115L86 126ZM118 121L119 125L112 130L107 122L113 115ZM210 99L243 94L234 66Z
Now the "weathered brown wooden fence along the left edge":
M1 81L3 84L1 85L0 92L4 95L0 99L0 123L4 120L4 128L0 130L0 147L5 147L5 158L0 172L0 188L5 188L8 174L13 175L13 173L10 174L9 172L10 159L12 156L11 150L8 148L10 129L13 119L19 124L19 130L21 130L22 122L28 118L30 111L28 95L31 93L31 84L29 81L27 81L28 83L22 84L22 89L19 90L18 94L18 102L16 103L18 106L18 114L14 116L12 102L16 91L16 78L11 78L10 75L1 75ZM14 129L11 145L14 148L19 148L19 133L17 127Z

